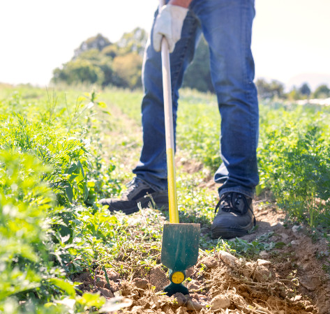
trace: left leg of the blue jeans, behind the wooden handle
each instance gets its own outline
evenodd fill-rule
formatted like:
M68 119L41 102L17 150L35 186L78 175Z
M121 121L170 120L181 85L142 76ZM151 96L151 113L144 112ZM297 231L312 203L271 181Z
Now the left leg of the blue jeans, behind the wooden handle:
M155 17L157 15L157 11ZM181 40L170 54L174 135L177 120L177 101L183 73L193 60L195 46L200 37L200 26L195 16L188 13L183 22ZM152 36L152 30L151 30ZM146 181L155 190L167 189L167 163L165 144L165 123L163 105L163 78L161 54L152 47L152 38L148 40L144 52L142 82L143 147L140 161L133 173Z

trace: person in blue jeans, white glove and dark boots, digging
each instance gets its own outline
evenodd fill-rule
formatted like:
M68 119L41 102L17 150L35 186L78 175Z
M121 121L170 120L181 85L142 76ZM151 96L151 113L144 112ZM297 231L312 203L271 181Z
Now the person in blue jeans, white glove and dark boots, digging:
M254 0L170 0L156 11L144 52L143 147L134 179L120 198L103 199L110 211L126 214L150 202L168 206L167 165L160 42L170 49L174 134L179 89L201 34L209 45L211 78L221 116L220 156L214 179L220 201L211 225L213 238L241 237L255 225L259 113L250 49Z

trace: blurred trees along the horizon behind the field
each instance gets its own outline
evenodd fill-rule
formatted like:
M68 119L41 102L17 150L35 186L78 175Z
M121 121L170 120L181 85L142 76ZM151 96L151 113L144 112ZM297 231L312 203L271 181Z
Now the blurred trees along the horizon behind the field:
M88 38L74 52L73 58L53 71L55 84L98 84L100 87L114 86L128 89L142 87L141 70L144 46L148 34L136 28L124 33L117 43L101 35ZM311 91L307 83L285 92L285 85L277 80L256 80L260 98L297 100L303 98L328 98L330 89L326 84ZM202 37L195 50L193 63L186 70L183 87L213 92L209 67L209 47Z

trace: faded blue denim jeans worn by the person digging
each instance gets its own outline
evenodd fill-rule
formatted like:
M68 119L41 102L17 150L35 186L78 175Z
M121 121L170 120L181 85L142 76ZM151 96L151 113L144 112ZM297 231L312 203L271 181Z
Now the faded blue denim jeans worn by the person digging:
M158 12L156 11L155 17ZM214 179L219 195L239 192L253 197L258 184L259 112L250 50L254 0L193 0L183 22L181 39L170 54L174 133L179 88L193 61L201 33L209 45L211 77L221 116L220 165ZM151 31L152 36L152 31ZM152 40L152 38L151 38ZM167 165L160 52L152 41L144 52L142 81L143 147L133 173L155 190L167 188Z

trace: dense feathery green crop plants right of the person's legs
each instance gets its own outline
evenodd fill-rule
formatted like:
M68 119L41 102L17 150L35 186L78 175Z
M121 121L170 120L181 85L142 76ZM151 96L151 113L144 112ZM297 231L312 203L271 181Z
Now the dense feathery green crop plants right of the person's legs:
M301 110L278 110L277 114L277 123L262 130L260 185L271 190L278 205L292 218L305 220L311 227L327 225L330 158L326 118Z

